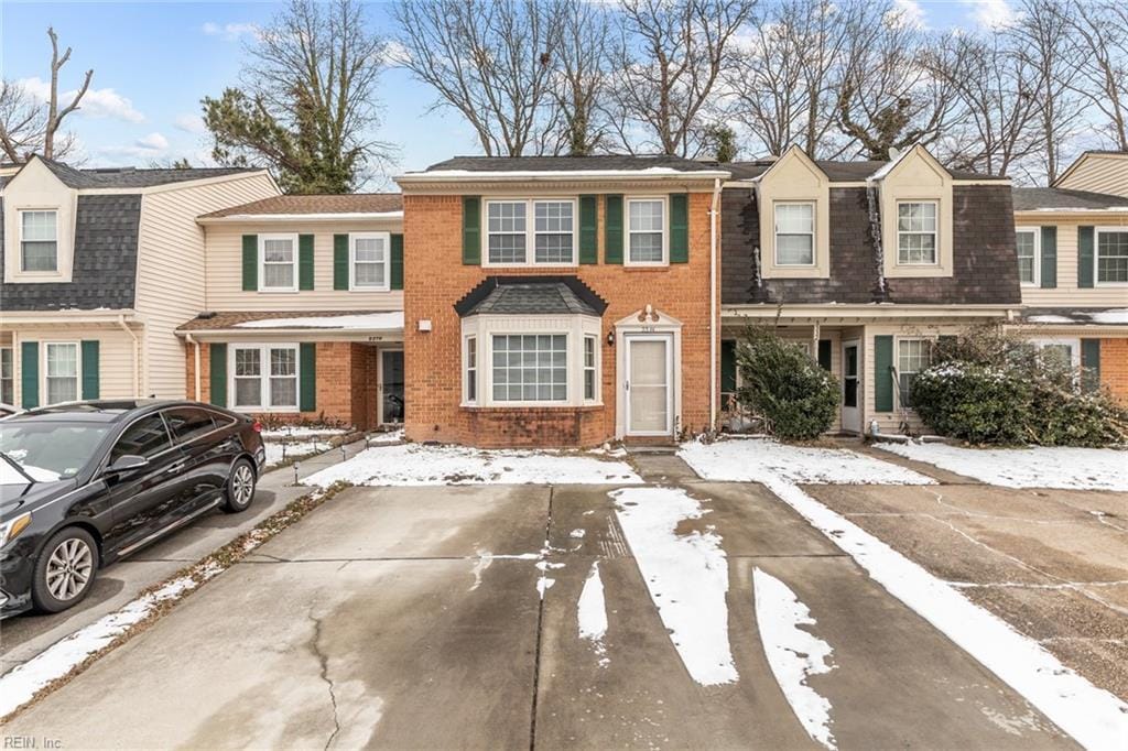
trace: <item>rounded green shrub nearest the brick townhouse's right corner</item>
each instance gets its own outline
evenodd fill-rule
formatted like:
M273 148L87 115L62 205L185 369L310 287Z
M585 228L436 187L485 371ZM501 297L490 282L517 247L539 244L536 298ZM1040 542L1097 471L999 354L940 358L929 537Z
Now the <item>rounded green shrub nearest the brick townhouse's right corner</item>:
M749 327L737 345L741 386L737 403L764 421L773 435L809 441L838 414L838 381L795 344L763 327Z

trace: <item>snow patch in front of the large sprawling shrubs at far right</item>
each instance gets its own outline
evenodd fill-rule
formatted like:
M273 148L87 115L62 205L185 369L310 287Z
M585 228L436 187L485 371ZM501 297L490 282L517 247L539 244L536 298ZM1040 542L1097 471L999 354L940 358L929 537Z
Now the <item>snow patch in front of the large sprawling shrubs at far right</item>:
M879 449L1004 487L1128 491L1128 451L966 449L945 443L878 443Z

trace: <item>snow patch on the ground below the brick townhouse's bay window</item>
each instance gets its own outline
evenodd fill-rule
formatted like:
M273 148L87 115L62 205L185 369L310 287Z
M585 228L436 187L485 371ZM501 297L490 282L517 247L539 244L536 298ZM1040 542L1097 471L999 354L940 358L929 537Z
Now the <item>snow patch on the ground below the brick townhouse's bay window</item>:
M327 487L353 485L636 485L623 461L562 451L483 451L417 443L368 449L302 480Z

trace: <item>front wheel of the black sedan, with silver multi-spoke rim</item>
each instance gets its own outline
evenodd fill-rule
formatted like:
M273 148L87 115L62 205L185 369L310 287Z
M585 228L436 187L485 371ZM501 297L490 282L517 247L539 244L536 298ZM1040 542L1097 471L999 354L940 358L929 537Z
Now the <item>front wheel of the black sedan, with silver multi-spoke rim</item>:
M42 612L72 608L90 593L98 571L98 545L80 527L56 532L35 562L32 602Z

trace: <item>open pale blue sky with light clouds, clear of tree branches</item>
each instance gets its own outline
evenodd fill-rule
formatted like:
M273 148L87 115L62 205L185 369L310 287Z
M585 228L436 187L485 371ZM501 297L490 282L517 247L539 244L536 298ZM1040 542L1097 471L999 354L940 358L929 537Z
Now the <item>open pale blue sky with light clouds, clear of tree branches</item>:
M973 28L1007 12L1006 0L899 1L935 28ZM87 165L147 166L180 157L206 164L200 99L237 82L250 29L281 8L277 2L0 0L0 73L9 80L46 79L46 28L53 25L61 45L74 50L60 90L72 90L87 69L95 71L83 108L68 123ZM373 24L390 29L387 3L370 3L369 10ZM453 113L432 111L430 90L406 71L384 73L380 98L385 113L377 136L399 147L394 169L479 151L470 129Z

